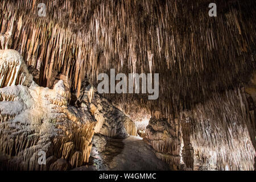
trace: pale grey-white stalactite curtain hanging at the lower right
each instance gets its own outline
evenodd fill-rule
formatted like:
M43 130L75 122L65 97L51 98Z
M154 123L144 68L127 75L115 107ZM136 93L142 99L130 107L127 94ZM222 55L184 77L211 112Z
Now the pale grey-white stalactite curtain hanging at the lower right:
M255 105L243 88L216 94L181 115L191 122L189 140L205 162L220 170L254 169Z

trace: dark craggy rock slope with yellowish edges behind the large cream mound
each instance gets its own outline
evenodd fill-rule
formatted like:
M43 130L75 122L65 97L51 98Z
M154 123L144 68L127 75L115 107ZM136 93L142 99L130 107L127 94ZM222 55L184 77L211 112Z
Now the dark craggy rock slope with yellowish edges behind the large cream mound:
M109 100L97 94L92 86L88 85L82 90L78 102L81 107L88 107L90 113L96 118L95 133L111 138L137 135L135 123Z

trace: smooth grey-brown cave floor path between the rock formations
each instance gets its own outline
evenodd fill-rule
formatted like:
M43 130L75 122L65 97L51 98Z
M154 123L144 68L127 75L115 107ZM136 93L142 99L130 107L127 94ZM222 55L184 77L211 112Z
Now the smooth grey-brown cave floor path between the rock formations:
M110 171L163 171L170 170L168 164L156 158L152 148L140 137L111 139L101 152L105 169ZM96 164L82 166L75 170L96 170Z

